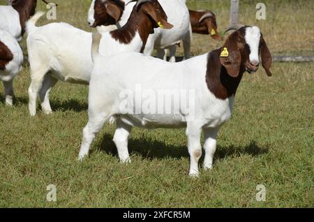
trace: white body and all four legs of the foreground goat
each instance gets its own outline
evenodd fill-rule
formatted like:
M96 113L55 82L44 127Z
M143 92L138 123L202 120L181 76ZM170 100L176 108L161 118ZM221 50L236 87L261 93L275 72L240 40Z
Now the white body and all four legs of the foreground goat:
M98 56L94 60L89 87L89 122L83 131L79 158L89 152L89 146L98 131L112 115L117 118L114 142L122 162L130 161L128 135L133 126L143 128L186 127L188 151L190 154L190 175L198 175L198 161L202 148L200 136L205 135L206 151L204 168L211 168L216 150L216 136L219 127L230 119L234 97L220 100L209 91L206 84L207 55L173 64L138 53L122 53L112 57ZM123 66L121 66L123 64ZM183 114L125 114L121 113L120 93L130 90L135 94L136 85L142 89L194 90L195 113ZM144 103L144 99L142 103ZM131 102L131 101L129 101ZM140 109L133 104L134 109ZM192 104L192 103L191 103ZM190 108L190 107L189 107ZM198 155L196 155L198 154Z

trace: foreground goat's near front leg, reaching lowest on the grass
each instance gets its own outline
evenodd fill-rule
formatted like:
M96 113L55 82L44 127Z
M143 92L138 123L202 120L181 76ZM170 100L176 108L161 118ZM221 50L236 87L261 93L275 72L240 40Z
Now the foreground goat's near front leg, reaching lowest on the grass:
M202 128L197 124L188 123L186 135L188 136L188 153L190 154L190 176L198 177L198 161L202 156L202 146L200 143Z

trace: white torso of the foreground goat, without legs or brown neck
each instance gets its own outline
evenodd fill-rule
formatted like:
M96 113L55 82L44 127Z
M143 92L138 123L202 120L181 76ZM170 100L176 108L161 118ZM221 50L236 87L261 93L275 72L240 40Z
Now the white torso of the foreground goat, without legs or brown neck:
M121 61L124 66L121 66ZM177 64L137 53L97 58L90 82L91 112L93 109L106 110L106 113L119 114L122 119L128 119L133 126L148 128L177 128L185 126L187 121L197 121L201 127L218 127L230 118L233 98L224 101L216 98L207 87L206 71L207 54ZM180 114L121 114L119 104L124 98L119 93L130 90L135 94L137 85L142 91L152 90L156 95L158 90L193 90L193 117L183 114L184 110L180 110ZM128 104L131 103L128 101ZM142 103L135 103L134 108L140 110L137 105Z

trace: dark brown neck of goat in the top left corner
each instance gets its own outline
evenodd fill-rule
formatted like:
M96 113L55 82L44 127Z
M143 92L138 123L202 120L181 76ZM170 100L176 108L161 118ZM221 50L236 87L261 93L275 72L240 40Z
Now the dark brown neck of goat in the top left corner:
M18 1L17 3L13 3L12 7L19 13L20 15L20 25L22 28L22 35L25 32L25 23L29 20L29 17L35 14L37 0L29 0L29 1Z

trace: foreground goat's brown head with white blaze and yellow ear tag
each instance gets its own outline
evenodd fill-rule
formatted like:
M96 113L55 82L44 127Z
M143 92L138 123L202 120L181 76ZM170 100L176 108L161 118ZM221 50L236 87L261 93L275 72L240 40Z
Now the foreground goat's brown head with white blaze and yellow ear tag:
M258 27L241 26L234 31L221 48L220 63L227 73L237 77L242 71L255 73L262 57L262 66L271 76L271 53ZM231 27L227 31L234 29Z

